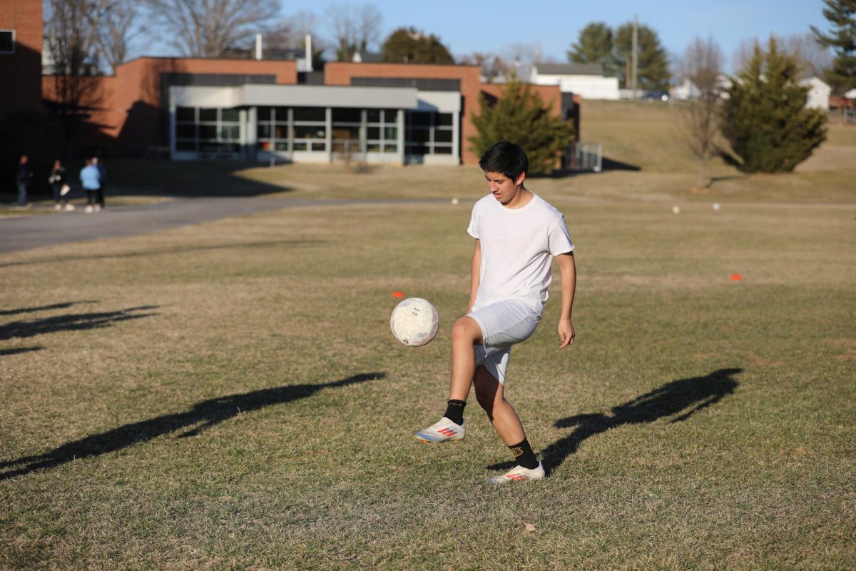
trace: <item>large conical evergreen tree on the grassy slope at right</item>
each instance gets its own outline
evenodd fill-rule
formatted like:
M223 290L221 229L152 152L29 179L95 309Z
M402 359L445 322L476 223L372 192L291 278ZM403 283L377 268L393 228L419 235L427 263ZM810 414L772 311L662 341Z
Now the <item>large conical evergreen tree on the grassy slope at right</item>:
M823 111L805 108L799 62L774 38L766 52L755 45L726 92L722 134L739 158L726 160L743 172L789 172L826 139Z

